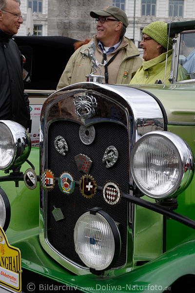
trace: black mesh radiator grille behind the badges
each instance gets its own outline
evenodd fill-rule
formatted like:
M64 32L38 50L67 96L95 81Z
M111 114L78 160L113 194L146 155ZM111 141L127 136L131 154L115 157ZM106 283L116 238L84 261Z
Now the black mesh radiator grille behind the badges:
M106 181L117 182L121 190L128 192L129 180L129 143L127 129L117 123L107 122L94 124L96 138L91 145L84 145L79 138L80 125L70 121L56 121L49 126L48 135L48 169L59 177L64 171L69 172L74 180L79 181L83 173L79 172L75 162L75 156L79 153L87 155L92 161L89 174L94 177L98 186ZM54 147L55 138L61 135L67 142L68 152L63 157ZM104 151L108 146L115 146L119 157L117 163L106 168L102 163ZM85 198L80 193L79 187L75 187L72 194L62 193L56 183L54 189L47 195L47 235L49 242L60 253L72 261L85 266L74 247L74 227L78 217L93 207L101 207L115 221L120 223L122 249L115 267L123 266L126 262L126 238L127 238L127 208L128 203L121 200L117 205L109 205L102 192L98 191L93 198ZM60 208L65 219L55 221L52 210Z

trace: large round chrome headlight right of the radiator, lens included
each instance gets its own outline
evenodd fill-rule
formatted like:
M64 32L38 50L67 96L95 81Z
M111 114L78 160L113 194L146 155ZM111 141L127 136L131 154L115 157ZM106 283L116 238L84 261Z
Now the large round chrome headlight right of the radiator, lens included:
M137 141L130 167L141 192L162 199L176 196L189 185L194 157L190 147L176 134L153 131Z

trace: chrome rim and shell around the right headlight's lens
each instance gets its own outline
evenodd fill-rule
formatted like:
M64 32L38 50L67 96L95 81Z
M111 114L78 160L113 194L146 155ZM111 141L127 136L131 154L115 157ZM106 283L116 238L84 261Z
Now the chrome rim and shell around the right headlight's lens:
M180 166L177 183L173 188L170 188L172 192L168 191L162 195L151 194L150 192L146 190L146 188L143 188L143 186L141 186L140 182L138 181L135 175L135 170L134 170L135 153L138 147L144 142L144 140L149 139L150 137L155 137L155 136L157 138L160 137L162 139L167 140L167 142L169 142L169 144L174 147L175 152L177 154L177 158L179 160L178 164ZM194 175L194 155L192 153L192 150L188 146L188 144L175 133L167 132L167 131L151 131L144 134L134 146L131 152L130 169L131 169L133 180L137 185L137 188L143 194L151 198L159 199L159 200L165 199L165 198L171 198L171 197L177 196L179 193L184 191L190 184Z

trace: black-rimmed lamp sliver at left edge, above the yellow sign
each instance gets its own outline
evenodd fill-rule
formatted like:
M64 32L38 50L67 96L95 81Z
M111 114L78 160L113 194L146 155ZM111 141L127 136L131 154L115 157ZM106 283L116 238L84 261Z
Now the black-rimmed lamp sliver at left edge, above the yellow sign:
M10 222L11 210L7 195L0 188L0 226L4 231L7 230Z

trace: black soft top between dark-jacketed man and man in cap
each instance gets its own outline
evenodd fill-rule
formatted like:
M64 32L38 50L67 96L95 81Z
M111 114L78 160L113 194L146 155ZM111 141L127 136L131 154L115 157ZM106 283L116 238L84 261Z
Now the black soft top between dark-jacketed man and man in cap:
M32 48L32 77L25 89L56 89L66 63L74 53L73 44L78 40L61 36L15 36L14 41L27 62L31 62L31 57L25 47Z

